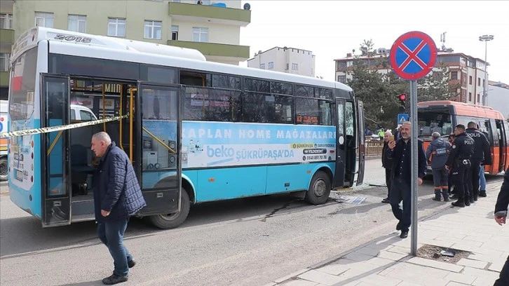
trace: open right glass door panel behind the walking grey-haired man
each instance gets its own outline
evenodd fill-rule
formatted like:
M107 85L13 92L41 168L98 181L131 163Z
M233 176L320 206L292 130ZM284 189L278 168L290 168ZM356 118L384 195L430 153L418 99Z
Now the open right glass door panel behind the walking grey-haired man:
M172 214L181 207L182 163L180 153L182 120L178 85L140 83L137 122L141 161L140 182L147 207L140 214Z

